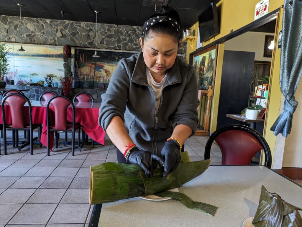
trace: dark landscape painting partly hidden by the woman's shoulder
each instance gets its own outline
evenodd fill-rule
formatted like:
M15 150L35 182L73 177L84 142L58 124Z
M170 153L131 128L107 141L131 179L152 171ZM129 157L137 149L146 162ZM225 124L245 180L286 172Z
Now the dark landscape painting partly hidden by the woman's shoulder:
M95 50L76 49L74 53L75 88L104 87L109 83L117 63L122 58L130 57L135 51L98 50L100 57L92 57Z

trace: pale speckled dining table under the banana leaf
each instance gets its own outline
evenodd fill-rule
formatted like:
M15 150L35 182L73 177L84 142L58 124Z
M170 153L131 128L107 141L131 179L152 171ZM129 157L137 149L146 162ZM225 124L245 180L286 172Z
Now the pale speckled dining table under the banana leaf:
M270 168L212 165L178 190L194 201L217 206L214 216L189 209L174 199L148 201L136 197L94 205L89 226L241 227L246 219L255 216L262 185L302 208L302 186Z

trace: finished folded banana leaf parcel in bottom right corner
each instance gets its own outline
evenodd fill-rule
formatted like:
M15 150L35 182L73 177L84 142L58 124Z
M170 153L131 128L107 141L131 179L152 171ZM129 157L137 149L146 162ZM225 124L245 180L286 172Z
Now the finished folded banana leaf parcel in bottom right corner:
M285 202L278 194L268 192L262 185L259 206L252 223L256 227L301 227L298 210L302 209Z

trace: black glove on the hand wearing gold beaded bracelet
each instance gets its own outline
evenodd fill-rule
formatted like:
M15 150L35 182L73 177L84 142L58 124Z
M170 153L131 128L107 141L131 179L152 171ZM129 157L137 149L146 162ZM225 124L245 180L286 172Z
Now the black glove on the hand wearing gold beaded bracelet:
M166 177L168 173L174 171L180 163L179 145L173 140L167 141L162 148L161 155L165 159L164 173L162 176Z

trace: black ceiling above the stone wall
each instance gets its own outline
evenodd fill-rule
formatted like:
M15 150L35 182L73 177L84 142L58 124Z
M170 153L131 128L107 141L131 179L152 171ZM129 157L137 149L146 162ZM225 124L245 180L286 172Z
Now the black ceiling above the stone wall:
M95 22L97 10L98 23L142 26L155 13L155 5L158 9L168 4L178 11L185 29L198 21L210 2L213 0L0 0L0 15L19 16L17 3L21 3L22 17Z

